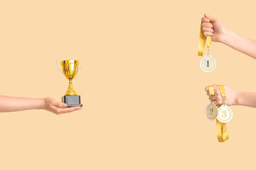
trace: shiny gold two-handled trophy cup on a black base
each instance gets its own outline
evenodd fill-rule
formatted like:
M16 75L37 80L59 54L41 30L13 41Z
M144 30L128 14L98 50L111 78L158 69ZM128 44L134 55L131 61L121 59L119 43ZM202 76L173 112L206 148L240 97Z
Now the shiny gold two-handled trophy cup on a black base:
M80 95L75 93L72 80L82 68L82 60L57 60L58 68L69 81L68 90L65 96L62 97L62 102L67 104L67 107L81 106Z

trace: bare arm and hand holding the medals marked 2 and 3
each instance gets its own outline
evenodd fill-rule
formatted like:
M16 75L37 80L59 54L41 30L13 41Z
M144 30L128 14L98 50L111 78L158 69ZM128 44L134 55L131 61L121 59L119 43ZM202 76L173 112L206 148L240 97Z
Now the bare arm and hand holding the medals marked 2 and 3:
M213 103L216 105L223 104L223 98L220 95L220 90L216 84L214 86L214 96L213 96ZM256 93L251 92L240 92L231 89L228 86L224 86L227 98L225 99L225 103L228 106L237 105L237 106L249 106L252 108L256 108ZM209 88L206 86L206 94L209 96Z

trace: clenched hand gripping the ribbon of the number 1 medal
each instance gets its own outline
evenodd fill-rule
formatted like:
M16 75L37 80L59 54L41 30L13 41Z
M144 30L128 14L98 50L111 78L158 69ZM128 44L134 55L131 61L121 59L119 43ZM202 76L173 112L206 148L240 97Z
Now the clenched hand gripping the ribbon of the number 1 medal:
M207 35L211 35L212 40L214 42L223 42L223 39L225 38L225 35L228 30L225 28L225 26L223 26L223 23L221 23L218 20L218 18L214 18L213 16L208 16L205 13L201 21L202 21L202 27L203 27L203 35L205 35L206 37ZM212 22L213 25L211 25L208 22Z

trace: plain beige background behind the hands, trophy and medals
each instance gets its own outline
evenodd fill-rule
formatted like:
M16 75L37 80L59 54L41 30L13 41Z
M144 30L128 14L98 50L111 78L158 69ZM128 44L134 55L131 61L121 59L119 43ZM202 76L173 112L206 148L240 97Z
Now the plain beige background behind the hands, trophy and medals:
M231 106L218 143L204 87L255 90L255 65L213 42L197 56L203 13L256 39L255 1L1 1L1 95L60 101L56 60L82 59L84 109L0 114L0 169L254 169L256 108Z

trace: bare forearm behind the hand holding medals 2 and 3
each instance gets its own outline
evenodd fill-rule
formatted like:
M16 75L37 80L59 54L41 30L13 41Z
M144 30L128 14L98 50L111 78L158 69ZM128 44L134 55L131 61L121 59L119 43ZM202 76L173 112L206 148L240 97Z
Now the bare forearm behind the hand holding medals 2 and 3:
M256 108L256 93L238 92L236 105Z

